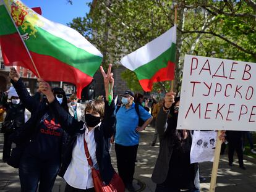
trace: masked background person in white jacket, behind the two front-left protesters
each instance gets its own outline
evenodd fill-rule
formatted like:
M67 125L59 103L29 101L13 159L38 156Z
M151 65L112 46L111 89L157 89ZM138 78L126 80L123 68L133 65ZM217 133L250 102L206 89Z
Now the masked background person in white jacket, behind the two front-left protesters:
M72 115L72 117L75 118L75 120L82 120L85 122L85 107L83 104L80 104L78 101L76 94L71 94L69 98L70 102L67 104L69 106L69 113Z

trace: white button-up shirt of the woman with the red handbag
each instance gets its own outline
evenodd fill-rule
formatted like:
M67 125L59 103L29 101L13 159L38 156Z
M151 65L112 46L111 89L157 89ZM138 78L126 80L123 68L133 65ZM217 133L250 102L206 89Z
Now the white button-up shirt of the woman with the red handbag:
M96 127L98 126L100 126L100 124ZM95 129L93 128L93 130L88 131L85 124L83 125L83 128L86 129L85 134L79 134L77 136L77 141L72 151L72 159L69 167L67 167L64 179L70 186L86 190L88 188L93 188L93 180L92 171L85 155L83 137L87 143L87 147L93 161L93 167L98 169L98 164L96 159L96 142L94 138Z

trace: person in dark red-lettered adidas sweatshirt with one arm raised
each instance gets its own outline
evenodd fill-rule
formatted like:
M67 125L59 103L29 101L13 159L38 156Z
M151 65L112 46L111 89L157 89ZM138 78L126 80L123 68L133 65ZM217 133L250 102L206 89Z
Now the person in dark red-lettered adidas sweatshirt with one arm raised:
M10 70L10 77L20 101L31 112L30 120L24 125L26 129L17 130L12 136L14 143L25 146L19 163L21 190L35 192L40 183L39 191L51 191L61 165L66 135L48 102L30 96L14 68ZM64 90L54 88L52 93L61 109L68 112Z

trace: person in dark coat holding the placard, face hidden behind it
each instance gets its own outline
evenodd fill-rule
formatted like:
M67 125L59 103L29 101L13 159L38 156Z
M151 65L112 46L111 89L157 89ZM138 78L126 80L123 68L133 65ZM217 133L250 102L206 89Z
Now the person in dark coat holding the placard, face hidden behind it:
M189 130L177 130L179 98L166 93L163 107L156 119L160 152L153 170L155 192L199 192L198 164L190 164L192 135ZM224 132L220 136L224 140Z

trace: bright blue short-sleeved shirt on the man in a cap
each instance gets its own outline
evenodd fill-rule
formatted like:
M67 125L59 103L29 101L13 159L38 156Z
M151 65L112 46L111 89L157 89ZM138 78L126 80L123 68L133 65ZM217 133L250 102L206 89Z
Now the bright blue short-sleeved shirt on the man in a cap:
M116 111L115 111L116 112ZM140 118L148 120L151 115L139 105ZM116 113L116 136L115 142L123 146L134 146L139 144L140 133L135 129L139 124L139 116L135 110L135 103L129 109L122 105Z

